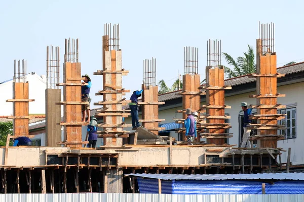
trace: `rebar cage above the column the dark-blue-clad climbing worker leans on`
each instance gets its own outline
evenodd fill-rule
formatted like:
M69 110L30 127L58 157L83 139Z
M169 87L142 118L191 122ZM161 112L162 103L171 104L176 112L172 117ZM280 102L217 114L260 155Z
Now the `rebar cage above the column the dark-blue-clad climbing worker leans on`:
M156 59L143 61L143 84L146 88L156 86Z

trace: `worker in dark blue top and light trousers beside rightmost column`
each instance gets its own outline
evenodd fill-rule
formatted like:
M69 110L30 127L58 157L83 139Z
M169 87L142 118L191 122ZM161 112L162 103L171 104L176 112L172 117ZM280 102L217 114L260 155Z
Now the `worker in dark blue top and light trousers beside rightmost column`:
M251 130L247 129L247 124L251 123L251 120L249 120L249 115L251 115L252 109L248 109L248 104L246 102L241 103L242 110L244 111L244 119L243 119L243 139L242 139L242 145L241 147L245 147L247 143L247 147L251 147L251 143L249 141L250 132Z

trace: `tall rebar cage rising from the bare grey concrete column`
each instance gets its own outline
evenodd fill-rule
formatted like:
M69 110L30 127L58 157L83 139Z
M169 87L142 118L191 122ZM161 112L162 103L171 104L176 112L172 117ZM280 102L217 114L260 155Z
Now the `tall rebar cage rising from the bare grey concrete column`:
M47 46L47 88L56 89L56 83L59 83L59 46Z

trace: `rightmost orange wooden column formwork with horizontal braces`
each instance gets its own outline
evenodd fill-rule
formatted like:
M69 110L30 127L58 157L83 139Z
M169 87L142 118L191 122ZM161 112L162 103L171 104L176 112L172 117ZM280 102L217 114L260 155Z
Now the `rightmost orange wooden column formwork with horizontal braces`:
M278 135L278 130L285 129L284 126L278 125L278 120L285 118L285 115L277 114L278 108L284 108L277 104L277 97L284 97L285 94L277 92L277 78L285 74L277 73L277 56L276 53L261 54L261 40L257 39L257 66L256 74L256 95L250 95L256 98L256 105L249 106L256 108L257 114L252 115L250 119L256 119L257 124L249 124L249 129L257 130L257 135L251 140L257 140L258 147L277 147L277 141L284 139Z

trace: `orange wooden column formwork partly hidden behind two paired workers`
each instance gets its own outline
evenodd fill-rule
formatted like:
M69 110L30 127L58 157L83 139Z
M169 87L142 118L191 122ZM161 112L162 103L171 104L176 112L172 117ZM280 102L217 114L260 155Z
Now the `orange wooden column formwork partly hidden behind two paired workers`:
M184 123L184 120L187 118L185 112L186 109L191 109L193 112L196 111L203 113L200 110L201 95L204 95L205 92L201 92L200 87L200 75L199 74L185 74L182 76L182 91L177 93L182 95L182 110L179 110L179 113L182 113L182 119L173 119L176 123ZM179 132L182 132L182 139L186 141L185 128L181 128ZM199 136L199 134L198 134Z

